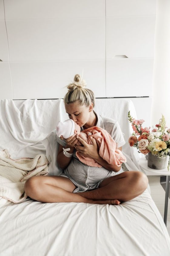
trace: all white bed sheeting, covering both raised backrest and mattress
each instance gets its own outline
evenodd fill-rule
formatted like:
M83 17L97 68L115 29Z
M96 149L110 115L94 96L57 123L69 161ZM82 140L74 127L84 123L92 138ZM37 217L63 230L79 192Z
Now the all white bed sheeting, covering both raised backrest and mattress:
M104 106L104 107L103 107ZM56 124L68 118L63 100L0 101L0 150L11 158L46 154L50 175L59 175L56 163ZM133 103L122 99L96 99L96 111L116 119L125 134ZM6 115L7 114L7 115ZM122 119L120 119L122 117ZM52 132L51 132L52 131ZM138 169L138 153L127 143L123 152L129 170ZM169 256L170 238L148 189L120 205L40 203L27 197L22 203L0 199L0 255L59 256Z

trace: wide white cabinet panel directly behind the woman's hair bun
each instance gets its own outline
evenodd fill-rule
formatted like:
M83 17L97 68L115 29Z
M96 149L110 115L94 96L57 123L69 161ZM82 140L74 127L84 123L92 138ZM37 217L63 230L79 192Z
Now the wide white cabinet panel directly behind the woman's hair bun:
M87 77L96 97L105 94L105 60L11 62L14 99L57 99L67 93L75 74Z

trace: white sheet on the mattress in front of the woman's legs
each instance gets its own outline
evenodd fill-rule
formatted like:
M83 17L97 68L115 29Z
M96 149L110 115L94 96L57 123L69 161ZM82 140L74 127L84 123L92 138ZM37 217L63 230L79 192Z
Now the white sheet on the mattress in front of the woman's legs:
M40 203L0 208L1 256L169 256L170 239L146 190L120 205Z

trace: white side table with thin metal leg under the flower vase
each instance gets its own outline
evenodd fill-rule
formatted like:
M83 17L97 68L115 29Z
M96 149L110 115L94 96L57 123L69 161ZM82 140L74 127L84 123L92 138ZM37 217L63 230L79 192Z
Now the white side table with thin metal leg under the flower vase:
M164 208L164 223L167 223L167 210L168 210L168 194L169 194L169 178L170 178L170 171L167 168L156 170L148 167L147 160L145 157L142 157L138 161L140 167L144 171L150 171L155 174L165 175L166 176L166 189L165 189L165 208Z

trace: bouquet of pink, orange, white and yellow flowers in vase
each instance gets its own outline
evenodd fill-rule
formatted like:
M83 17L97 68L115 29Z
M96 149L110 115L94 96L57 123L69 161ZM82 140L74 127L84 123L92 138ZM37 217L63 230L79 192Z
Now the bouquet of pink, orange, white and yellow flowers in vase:
M155 127L142 127L142 124L145 120L135 120L131 117L130 111L128 112L128 120L132 125L133 133L129 138L130 146L134 146L138 149L139 153L147 154L151 153L152 155L159 158L161 161L162 158L170 156L170 129L166 126L165 117L162 115L162 118L159 120L159 124L156 124ZM168 161L168 171L170 166L170 158Z

